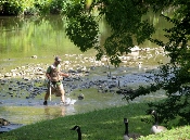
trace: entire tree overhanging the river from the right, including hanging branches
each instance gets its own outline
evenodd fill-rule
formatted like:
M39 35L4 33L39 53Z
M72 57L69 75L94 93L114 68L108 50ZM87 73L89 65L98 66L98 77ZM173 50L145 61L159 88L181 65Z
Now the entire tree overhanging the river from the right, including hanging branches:
M162 13L165 9L173 9L172 16L164 16L173 23L173 27L166 28L165 37L168 42L152 38L154 27L148 21L142 20L150 10ZM169 120L180 116L190 120L190 53L188 41L190 39L190 1L189 0L93 0L87 7L85 0L67 4L66 34L68 38L84 52L88 49L98 51L97 59L107 55L111 63L119 66L119 56L130 52L135 44L150 40L167 51L170 62L161 64L160 72L155 74L154 84L140 86L134 94L126 100L155 92L164 89L167 99L160 103L150 103L151 107L164 114L161 119ZM93 11L99 14L94 15ZM103 46L99 44L98 21L105 18L112 29Z

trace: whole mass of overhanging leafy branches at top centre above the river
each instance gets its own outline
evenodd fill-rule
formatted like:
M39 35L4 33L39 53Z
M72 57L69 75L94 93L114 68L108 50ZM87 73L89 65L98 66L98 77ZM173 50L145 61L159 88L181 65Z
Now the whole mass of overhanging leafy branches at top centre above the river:
M98 16L93 16L94 9L99 10ZM78 41L83 39L81 37L88 36L84 41L93 42L90 44L94 46L94 49L98 50L97 59L100 60L103 54L106 54L111 58L111 63L118 66L121 63L119 56L123 53L129 53L130 49L135 46L134 42L142 43L154 33L153 26L148 21L141 21L141 16L147 12L147 7L141 2L139 3L139 1L101 0L93 2L89 9L86 8L85 1L79 1L68 7L66 33L81 51L92 48L84 46L81 41ZM103 47L98 44L100 34L96 22L100 18L105 18L112 28L112 35L106 39ZM78 28L78 24L83 24L84 28ZM96 26L94 34L89 34L89 26ZM72 31L77 35L72 34ZM136 37L136 40L134 40L134 37Z

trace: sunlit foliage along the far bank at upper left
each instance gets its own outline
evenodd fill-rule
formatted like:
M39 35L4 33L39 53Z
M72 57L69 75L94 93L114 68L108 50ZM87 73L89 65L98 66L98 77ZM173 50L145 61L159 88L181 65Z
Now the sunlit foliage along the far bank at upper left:
M0 15L61 14L68 0L1 0Z

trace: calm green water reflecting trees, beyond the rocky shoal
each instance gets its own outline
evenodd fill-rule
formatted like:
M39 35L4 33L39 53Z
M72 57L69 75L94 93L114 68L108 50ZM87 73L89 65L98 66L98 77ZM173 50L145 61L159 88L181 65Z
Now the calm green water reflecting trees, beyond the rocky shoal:
M165 41L163 28L169 27L170 24L151 12L144 18L156 28L153 37ZM103 44L106 37L110 36L111 29L104 20L100 21L99 25L100 43ZM43 56L69 54L71 52L80 53L66 38L64 27L65 21L60 15L24 18L0 16L0 59L31 56L34 54ZM155 44L147 41L141 47L154 48ZM90 51L90 53L92 52Z

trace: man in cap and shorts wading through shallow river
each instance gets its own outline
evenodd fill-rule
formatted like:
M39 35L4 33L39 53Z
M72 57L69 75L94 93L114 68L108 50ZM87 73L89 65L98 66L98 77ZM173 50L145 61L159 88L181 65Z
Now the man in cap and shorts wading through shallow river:
M54 63L50 65L47 69L46 76L49 79L48 91L45 94L43 105L48 105L48 98L51 93L54 93L56 97L61 97L61 103L65 103L65 91L63 88L62 79L64 77L68 77L68 74L64 74L61 72L60 62L62 60L59 56L55 56ZM50 88L51 86L51 88Z

